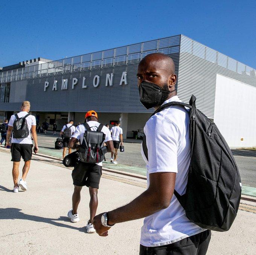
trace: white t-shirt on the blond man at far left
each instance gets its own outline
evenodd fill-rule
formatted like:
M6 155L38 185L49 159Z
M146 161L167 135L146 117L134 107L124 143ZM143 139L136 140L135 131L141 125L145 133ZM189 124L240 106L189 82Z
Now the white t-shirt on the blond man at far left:
M18 117L19 118L24 117L26 115L27 115L26 111L22 111L22 112L18 113ZM15 115L12 115L10 120L9 120L8 126L13 127L13 123L14 123L15 119L16 119ZM29 135L28 135L28 137L26 137L26 138L13 138L13 135L12 135L12 143L32 144L31 135L30 135L30 133L31 133L31 126L36 126L37 122L35 120L35 116L31 115L31 114L26 117L26 121L27 121L27 126L29 128Z

